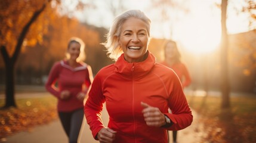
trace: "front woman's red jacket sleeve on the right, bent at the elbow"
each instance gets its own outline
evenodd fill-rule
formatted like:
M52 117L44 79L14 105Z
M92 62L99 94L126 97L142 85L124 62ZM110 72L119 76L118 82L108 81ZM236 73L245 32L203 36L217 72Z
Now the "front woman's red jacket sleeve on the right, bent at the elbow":
M174 123L171 127L167 128L168 130L181 130L190 126L193 121L192 111L190 110L189 104L184 95L183 88L181 83L174 74L171 78L170 89L169 89L169 99L168 106L171 109L172 113L165 113L166 116L171 119Z

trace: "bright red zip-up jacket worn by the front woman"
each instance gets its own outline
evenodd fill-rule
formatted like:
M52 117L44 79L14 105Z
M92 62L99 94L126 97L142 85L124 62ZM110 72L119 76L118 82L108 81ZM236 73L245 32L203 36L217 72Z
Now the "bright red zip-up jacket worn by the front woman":
M166 129L184 129L193 120L177 75L156 63L150 52L146 60L139 63L128 63L122 54L115 64L104 67L95 76L84 108L95 139L104 128L101 121L104 102L109 113L108 128L117 132L114 142L165 143ZM158 107L174 124L169 128L147 126L141 102Z

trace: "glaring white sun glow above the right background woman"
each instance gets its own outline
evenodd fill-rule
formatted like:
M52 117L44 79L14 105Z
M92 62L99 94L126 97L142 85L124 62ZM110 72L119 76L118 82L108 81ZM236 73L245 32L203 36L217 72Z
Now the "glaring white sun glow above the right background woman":
M182 30L178 34L184 49L194 54L205 54L217 49L221 39L220 23L205 19L186 21L180 25Z

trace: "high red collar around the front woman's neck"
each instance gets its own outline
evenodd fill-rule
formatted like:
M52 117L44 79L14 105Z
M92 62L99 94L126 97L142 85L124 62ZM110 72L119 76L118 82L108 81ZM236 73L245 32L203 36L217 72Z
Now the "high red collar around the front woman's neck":
M149 51L147 54L146 60L138 63L128 63L122 54L115 63L115 72L129 79L145 76L156 64L156 57Z

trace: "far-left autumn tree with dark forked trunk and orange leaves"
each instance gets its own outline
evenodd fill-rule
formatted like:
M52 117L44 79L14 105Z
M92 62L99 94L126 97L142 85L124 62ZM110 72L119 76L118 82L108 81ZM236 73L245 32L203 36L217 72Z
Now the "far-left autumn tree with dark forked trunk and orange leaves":
M5 64L5 105L16 107L14 69L30 26L50 1L1 1L1 54ZM14 40L15 39L15 40Z

